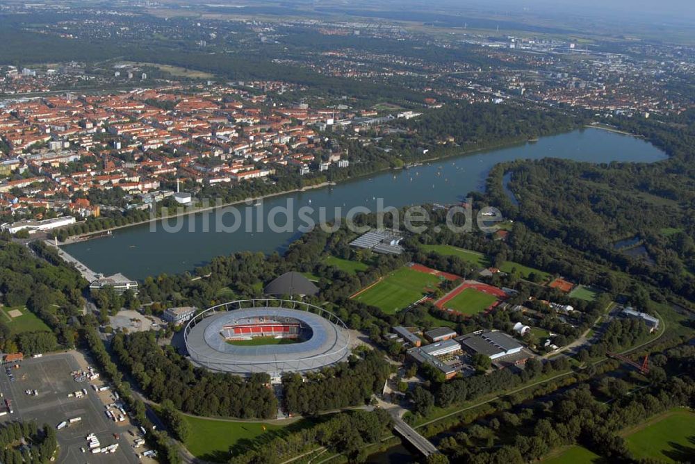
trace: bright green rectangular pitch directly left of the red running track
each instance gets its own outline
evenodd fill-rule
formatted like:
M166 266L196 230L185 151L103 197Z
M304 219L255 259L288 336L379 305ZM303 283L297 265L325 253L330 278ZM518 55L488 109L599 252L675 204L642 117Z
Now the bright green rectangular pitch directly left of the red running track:
M426 288L434 289L438 284L437 276L401 267L354 299L394 314L426 295Z

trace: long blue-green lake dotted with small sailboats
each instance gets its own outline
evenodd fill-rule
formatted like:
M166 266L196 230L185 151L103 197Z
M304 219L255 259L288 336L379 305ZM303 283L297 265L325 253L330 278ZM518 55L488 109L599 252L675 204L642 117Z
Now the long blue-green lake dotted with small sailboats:
M583 129L541 138L512 147L480 151L436 161L410 169L400 169L341 183L329 188L307 192L285 194L265 199L262 206L236 206L218 208L208 215L202 213L180 219L181 230L172 233L164 230L161 222L142 224L120 229L111 237L77 242L63 247L65 251L81 260L95 272L114 274L122 272L131 279L166 272L168 274L193 270L214 256L234 251L250 250L281 251L300 232L298 213L303 206L315 210L319 217L320 208L325 209L325 218L335 217L334 208L340 207L340 216L350 208L364 206L375 210L378 199L384 206L407 206L425 203L455 203L473 190L482 190L491 167L504 161L540 159L546 157L565 158L590 163L632 161L651 163L662 160L666 155L652 144L628 135L600 129ZM268 212L275 206L293 206L292 231L274 232L268 227ZM240 221L236 222L231 208L238 210ZM222 216L220 216L222 215ZM250 224L264 217L263 230ZM218 219L231 227L238 224L235 232L215 231ZM248 221L247 219L251 219ZM275 216L275 224L284 225L286 217ZM204 223L208 223L208 232ZM172 227L177 219L169 219ZM154 230L153 230L154 226Z

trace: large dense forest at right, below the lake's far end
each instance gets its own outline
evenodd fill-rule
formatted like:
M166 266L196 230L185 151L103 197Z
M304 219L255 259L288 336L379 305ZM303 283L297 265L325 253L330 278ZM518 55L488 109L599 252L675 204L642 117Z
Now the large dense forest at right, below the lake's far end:
M517 221L509 240L512 248L538 249L534 242L542 241L548 245L543 249L547 255L562 243L595 263L594 269L605 269L584 274L581 281L621 291L623 272L662 289L664 296L692 301L695 126L632 120L621 122L623 126L644 135L671 158L649 165L590 165L551 158L505 163L493 169L488 196ZM518 208L503 192L505 172Z

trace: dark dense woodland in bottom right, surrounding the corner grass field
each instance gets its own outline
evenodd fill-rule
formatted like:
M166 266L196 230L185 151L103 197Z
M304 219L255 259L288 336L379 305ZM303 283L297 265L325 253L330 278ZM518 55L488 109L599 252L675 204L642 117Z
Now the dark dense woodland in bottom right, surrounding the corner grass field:
M450 431L439 448L452 462L521 464L579 444L612 463L637 462L620 432L670 408L695 406L693 355L693 347L681 345L654 356L655 365L685 375L667 378L662 367L655 367L651 382L643 384L607 372L533 403L512 402ZM641 390L639 395L630 395L634 388ZM676 447L669 455L682 462L689 456L688 447Z

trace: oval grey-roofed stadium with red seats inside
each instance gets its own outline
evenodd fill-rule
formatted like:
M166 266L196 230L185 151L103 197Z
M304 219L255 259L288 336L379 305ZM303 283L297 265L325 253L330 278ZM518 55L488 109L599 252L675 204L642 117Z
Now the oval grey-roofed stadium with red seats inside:
M283 299L212 306L186 324L183 340L197 365L244 375L317 370L350 353L350 335L336 315Z

